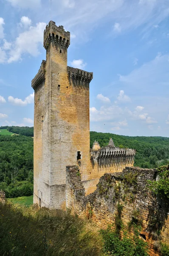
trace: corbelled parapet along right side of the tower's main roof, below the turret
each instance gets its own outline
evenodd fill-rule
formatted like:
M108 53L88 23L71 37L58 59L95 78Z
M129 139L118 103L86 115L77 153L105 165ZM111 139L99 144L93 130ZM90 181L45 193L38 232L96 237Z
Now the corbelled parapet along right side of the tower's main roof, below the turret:
M68 77L69 79L90 83L93 79L93 72L86 72L79 68L68 67Z

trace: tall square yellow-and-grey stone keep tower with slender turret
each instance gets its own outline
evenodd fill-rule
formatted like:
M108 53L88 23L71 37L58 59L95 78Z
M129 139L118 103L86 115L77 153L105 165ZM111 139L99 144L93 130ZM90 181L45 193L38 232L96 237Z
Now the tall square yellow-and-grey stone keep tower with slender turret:
M65 209L66 166L90 163L89 84L93 73L67 66L70 32L50 21L46 61L32 80L34 99L34 203ZM85 175L83 175L85 180Z

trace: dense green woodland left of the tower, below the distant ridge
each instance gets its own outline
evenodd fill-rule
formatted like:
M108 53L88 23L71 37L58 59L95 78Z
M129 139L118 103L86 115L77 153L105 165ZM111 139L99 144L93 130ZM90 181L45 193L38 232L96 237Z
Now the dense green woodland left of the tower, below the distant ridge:
M0 190L6 197L33 194L33 139L0 135Z

